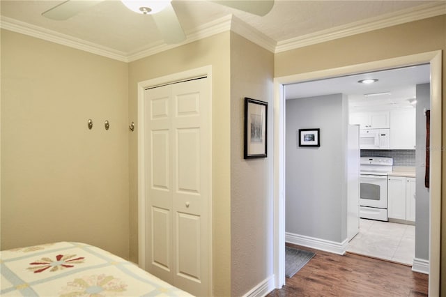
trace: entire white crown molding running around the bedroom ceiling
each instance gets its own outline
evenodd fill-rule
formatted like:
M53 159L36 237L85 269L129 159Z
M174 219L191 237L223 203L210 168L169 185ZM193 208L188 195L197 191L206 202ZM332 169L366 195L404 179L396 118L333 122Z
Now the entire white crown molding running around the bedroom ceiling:
M330 29L317 31L305 36L290 38L279 42L269 38L254 27L249 26L238 17L235 17L234 15L226 15L225 17L221 17L213 22L199 26L194 31L186 32L187 39L183 43L178 43L175 45L167 45L162 42L151 43L150 45L141 47L132 52L113 50L109 47L104 47L80 38L68 36L66 34L45 29L40 26L35 26L33 24L28 24L26 22L21 22L9 17L0 17L0 28L51 41L60 45L66 45L77 50L91 52L92 54L106 56L110 59L131 62L230 30L238 33L240 36L247 38L253 43L256 43L256 45L259 45L270 52L279 53L294 50L299 47L305 47L307 45L323 43L325 41L330 41L337 38L344 38L376 29L383 29L388 26L395 26L406 22L413 22L444 14L446 14L446 1L435 1L424 6L408 8L406 10L400 10L396 13L388 13L379 17L373 17L343 26L335 26Z

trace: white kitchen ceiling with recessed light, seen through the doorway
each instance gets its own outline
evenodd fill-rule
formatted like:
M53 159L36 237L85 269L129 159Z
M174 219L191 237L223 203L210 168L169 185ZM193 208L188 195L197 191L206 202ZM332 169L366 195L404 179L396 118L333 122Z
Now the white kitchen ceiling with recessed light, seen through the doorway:
M378 79L378 82L360 84L358 81L361 79ZM286 99L343 93L348 96L349 107L353 112L392 110L413 107L408 100L416 98L415 86L429 81L430 67L425 64L289 84L285 87L285 93Z

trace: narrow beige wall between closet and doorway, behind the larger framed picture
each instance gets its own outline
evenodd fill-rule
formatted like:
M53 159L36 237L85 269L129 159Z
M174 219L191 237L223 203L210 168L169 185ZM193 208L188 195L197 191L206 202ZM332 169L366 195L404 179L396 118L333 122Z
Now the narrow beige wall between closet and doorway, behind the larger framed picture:
M231 33L231 296L243 296L273 274L268 158L243 159L244 98L268 102L272 148L274 55Z

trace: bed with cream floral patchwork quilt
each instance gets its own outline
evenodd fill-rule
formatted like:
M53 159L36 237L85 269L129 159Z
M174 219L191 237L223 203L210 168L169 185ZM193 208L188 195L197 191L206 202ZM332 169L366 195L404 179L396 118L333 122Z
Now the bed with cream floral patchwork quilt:
M1 251L0 296L192 296L84 243Z

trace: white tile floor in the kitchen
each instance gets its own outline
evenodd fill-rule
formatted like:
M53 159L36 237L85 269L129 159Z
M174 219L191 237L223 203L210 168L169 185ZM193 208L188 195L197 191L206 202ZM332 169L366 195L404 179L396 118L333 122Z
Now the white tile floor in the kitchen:
M415 226L360 219L360 233L350 241L347 252L412 266Z

